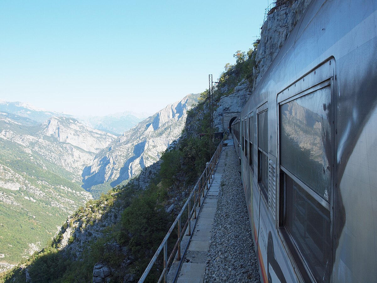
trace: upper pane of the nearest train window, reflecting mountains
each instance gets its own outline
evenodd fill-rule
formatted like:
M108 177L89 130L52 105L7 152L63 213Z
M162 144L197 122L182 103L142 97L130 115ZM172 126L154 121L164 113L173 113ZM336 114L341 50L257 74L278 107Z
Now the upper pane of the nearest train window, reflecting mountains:
M325 201L330 198L330 88L280 106L280 164Z

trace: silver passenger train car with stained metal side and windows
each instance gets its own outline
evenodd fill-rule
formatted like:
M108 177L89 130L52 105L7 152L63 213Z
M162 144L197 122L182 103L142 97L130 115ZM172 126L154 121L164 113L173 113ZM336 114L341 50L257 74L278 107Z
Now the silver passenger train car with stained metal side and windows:
M377 281L377 0L313 0L232 124L263 282Z

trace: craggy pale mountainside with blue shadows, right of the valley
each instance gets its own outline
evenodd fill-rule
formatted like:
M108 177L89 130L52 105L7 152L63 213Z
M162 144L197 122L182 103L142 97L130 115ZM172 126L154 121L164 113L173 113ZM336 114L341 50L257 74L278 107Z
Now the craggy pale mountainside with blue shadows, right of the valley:
M196 97L187 95L166 106L98 152L92 165L83 171L83 187L87 189L108 181L116 186L158 161L161 152L181 135L187 110Z

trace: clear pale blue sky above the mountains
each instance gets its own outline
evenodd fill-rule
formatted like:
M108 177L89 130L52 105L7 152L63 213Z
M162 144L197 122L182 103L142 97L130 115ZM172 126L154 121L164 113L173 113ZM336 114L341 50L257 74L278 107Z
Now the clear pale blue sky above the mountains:
M0 99L154 113L252 47L268 2L0 0Z

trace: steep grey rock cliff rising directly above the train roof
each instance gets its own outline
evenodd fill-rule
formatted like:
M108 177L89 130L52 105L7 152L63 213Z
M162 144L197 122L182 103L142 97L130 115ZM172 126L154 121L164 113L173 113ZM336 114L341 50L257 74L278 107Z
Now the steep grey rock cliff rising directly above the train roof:
M305 12L311 0L287 2L268 15L261 31L261 41L257 47L256 67L253 69L253 90L282 48L288 35Z

